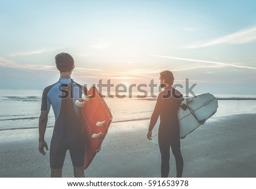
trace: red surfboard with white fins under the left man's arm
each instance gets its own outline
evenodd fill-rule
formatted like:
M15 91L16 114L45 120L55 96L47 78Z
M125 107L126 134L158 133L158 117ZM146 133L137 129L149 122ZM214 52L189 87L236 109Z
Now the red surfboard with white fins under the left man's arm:
M82 94L82 102L76 105L82 108L83 126L85 133L84 169L86 169L96 154L101 150L101 144L108 133L112 114L102 95L95 86Z

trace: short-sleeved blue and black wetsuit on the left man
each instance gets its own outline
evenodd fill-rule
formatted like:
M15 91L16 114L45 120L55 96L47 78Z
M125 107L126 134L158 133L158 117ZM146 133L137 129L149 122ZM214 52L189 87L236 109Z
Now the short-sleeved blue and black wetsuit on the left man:
M85 91L72 79L61 78L46 87L42 97L42 111L49 111L52 105L55 125L50 146L50 166L52 169L63 167L67 150L74 167L84 164L84 135L82 133L81 112L75 101L81 101Z

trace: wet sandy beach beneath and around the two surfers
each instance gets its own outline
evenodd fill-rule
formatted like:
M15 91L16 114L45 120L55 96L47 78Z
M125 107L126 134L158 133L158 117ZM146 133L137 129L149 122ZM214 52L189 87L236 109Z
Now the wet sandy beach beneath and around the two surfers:
M86 177L160 177L158 145L146 138L150 120L112 123ZM183 177L256 177L256 115L213 116L181 140ZM50 144L52 128L47 128ZM38 152L38 129L0 131L0 177L49 177L49 153ZM171 155L169 177L175 177ZM67 153L63 177L73 177Z

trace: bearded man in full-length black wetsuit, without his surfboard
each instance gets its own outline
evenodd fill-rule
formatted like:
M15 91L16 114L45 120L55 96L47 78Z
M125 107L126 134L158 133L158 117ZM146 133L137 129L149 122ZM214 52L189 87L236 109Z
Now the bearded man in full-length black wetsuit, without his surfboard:
M164 90L159 93L151 116L147 138L151 140L152 129L160 116L158 142L161 153L161 176L168 177L170 171L170 147L176 161L177 177L182 177L183 157L180 152L180 127L177 111L183 100L182 94L172 87L174 75L166 70L160 73L160 85Z

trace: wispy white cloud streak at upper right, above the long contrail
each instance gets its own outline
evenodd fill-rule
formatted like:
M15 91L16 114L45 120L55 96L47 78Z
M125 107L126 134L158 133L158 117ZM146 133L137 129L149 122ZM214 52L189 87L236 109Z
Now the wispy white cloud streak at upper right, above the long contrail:
M238 31L217 39L208 41L207 43L192 44L185 48L202 48L218 44L242 44L256 40L256 27L247 30Z

